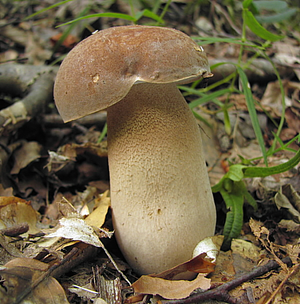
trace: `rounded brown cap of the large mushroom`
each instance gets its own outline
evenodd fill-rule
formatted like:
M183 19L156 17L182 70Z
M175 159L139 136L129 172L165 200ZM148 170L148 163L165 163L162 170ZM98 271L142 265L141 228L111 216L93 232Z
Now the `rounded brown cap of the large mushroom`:
M128 25L100 30L65 57L54 84L64 120L99 111L121 100L134 83L188 83L210 77L202 48L181 31Z

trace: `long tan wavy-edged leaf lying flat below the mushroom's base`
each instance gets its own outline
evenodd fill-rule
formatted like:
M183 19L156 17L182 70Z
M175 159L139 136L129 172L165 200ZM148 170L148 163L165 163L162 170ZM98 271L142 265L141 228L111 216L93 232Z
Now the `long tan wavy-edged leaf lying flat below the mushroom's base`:
M189 296L197 288L208 289L210 287L210 279L204 277L204 274L198 274L192 281L175 281L142 275L131 286L134 288L134 292L137 293L159 294L166 299L179 299Z

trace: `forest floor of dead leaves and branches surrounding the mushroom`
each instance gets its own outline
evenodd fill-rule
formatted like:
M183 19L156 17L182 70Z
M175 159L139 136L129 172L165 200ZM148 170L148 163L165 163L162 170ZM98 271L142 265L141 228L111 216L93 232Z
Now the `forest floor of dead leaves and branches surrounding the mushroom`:
M241 34L240 21L233 23L225 6L211 2L203 8L206 15L194 7L190 19L186 16L187 3L172 2L164 25L190 36L231 38L232 32ZM157 281L153 277L128 287L138 276L122 258L110 232L106 137L99 142L106 112L63 123L52 88L61 58L78 41L96 29L130 23L110 17L85 19L69 27L60 40L66 27L55 26L80 15L88 1L70 1L25 19L55 1L30 3L3 1L0 8L3 303L23 303L25 299L43 304L171 304L211 299L211 303L300 303L299 164L270 176L243 179L258 207L254 210L250 204L243 205L242 230L229 250L220 250L228 210L222 196L214 193L217 223L213 241L219 254L215 265L210 261L206 264L203 256L200 261L190 262L201 269L199 272L205 272L206 267L208 275L180 281L180 287L177 281ZM138 2L136 9L141 5ZM96 0L89 6L89 13L106 11L128 14L130 7L126 1L112 0ZM149 19L141 18L139 23L147 22ZM282 80L284 111L280 82L269 62L258 57L246 73L264 145L269 148L277 141L277 152L267 159L270 167L288 161L299 149L298 142L291 139L300 133L300 34L291 28L286 25L281 30L284 37L265 50ZM256 39L250 32L247 35L250 40ZM203 44L203 48L210 65L235 62L240 51L239 44L225 41ZM247 61L251 54L252 50L246 49L242 59ZM230 64L215 66L208 85L231 72ZM236 81L235 85L239 88L240 83ZM198 96L185 93L185 97L190 102ZM193 108L203 118L198 123L211 186L219 182L232 163L255 159L256 166L264 166L244 94L236 91L216 99ZM230 104L228 110L223 111L218 102ZM274 137L282 112L285 120L279 136ZM229 130L224 113L228 114L225 119ZM280 149L285 143L289 144ZM205 293L199 288L210 289ZM133 295L133 290L138 294Z

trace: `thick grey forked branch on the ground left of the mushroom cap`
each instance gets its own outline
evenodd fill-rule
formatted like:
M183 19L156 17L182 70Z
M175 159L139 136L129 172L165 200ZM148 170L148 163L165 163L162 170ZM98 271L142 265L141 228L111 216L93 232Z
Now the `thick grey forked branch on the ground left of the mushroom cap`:
M21 100L0 110L0 136L8 135L26 121L44 111L53 99L56 67L26 64L0 65L0 90Z

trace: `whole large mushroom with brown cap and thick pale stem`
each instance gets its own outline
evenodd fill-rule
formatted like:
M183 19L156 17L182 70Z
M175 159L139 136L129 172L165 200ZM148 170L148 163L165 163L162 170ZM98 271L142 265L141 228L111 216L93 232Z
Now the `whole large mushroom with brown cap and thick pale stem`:
M107 108L113 227L139 274L190 259L214 233L200 130L176 87L210 76L203 49L189 36L143 25L94 33L57 73L54 99L64 122Z

